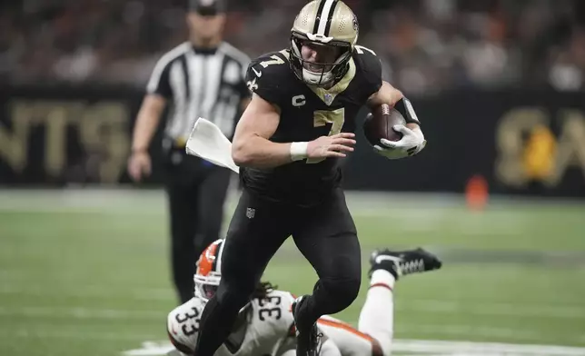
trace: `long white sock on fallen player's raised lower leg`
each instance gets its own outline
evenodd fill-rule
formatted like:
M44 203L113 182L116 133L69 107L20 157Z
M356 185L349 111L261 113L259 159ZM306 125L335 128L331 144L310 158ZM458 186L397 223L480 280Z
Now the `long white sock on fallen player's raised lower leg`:
M384 354L390 354L394 331L394 276L384 270L372 273L370 289L360 312L358 329L380 342Z

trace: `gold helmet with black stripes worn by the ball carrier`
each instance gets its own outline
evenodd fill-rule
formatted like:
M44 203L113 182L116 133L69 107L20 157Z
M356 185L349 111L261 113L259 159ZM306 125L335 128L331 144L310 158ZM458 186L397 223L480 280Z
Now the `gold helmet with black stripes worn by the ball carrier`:
M292 71L306 84L337 83L347 73L358 33L358 19L342 1L314 0L304 5L291 30ZM339 55L332 63L309 64L302 59L303 44L332 46Z

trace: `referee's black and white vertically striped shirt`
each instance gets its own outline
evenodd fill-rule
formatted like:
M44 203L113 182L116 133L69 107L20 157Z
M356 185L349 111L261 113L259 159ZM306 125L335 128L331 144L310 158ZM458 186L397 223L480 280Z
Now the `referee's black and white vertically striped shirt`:
M164 54L154 66L148 94L171 104L164 134L184 143L198 117L232 137L242 99L250 96L244 78L250 58L231 44L197 49L189 42Z

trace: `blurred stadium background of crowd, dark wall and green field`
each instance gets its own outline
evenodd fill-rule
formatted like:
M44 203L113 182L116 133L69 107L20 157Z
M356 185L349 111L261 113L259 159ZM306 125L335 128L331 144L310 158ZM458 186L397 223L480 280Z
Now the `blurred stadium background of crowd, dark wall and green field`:
M283 48L302 3L232 1L226 40ZM386 162L362 139L345 166L364 275L381 246L446 262L398 283L395 354L585 355L585 2L346 3L429 140ZM125 164L183 15L179 0L0 5L0 354L160 354L176 303L164 193ZM287 243L266 279L302 293L315 275ZM357 321L364 295L340 316Z

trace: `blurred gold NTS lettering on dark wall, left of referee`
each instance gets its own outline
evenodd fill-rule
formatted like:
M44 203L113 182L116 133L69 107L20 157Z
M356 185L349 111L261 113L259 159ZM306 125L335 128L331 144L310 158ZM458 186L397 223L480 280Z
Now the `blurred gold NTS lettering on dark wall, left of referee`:
M73 128L87 152L101 153L98 171L101 183L115 183L124 171L130 147L130 113L121 102L15 100L9 104L12 129L0 124L0 159L15 172L28 164L32 132L45 129L44 169L59 176L67 169L67 130Z

